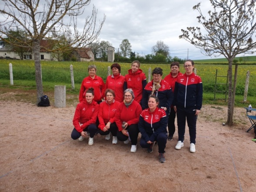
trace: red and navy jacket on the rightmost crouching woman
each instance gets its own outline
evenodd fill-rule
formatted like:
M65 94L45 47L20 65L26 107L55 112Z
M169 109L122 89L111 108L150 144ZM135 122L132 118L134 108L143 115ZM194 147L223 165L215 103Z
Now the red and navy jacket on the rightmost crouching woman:
M145 141L154 142L157 135L161 132L167 134L167 117L161 108L156 108L152 113L150 109L144 109L140 114L139 130Z

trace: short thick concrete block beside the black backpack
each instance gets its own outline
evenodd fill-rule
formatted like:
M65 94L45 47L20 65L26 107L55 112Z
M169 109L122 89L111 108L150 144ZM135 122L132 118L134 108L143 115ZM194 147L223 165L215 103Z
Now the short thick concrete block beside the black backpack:
M56 85L54 87L54 105L57 108L66 107L66 86Z

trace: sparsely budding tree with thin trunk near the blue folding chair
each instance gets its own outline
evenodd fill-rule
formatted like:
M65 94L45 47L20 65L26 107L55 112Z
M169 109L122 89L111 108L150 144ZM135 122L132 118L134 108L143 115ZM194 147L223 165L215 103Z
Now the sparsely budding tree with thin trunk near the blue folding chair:
M231 126L235 103L233 92L235 93L236 88L233 87L232 82L232 63L238 54L253 53L253 49L256 48L256 42L253 42L256 32L255 0L210 0L210 2L213 11L208 12L208 19L203 16L200 3L193 7L193 10L199 12L197 19L206 34L203 35L199 27L187 27L187 30L181 30L183 35L180 35L180 38L201 49L207 56L223 55L228 60L229 98L226 123Z

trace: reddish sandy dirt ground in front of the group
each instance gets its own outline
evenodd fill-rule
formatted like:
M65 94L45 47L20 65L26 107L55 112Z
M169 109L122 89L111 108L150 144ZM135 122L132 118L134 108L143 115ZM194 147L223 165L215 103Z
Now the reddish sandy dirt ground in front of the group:
M223 126L226 107L203 106L197 121L196 153L175 150L167 141L166 162L130 144L95 136L70 138L74 106L37 107L0 101L0 191L32 192L253 192L256 191L256 143L245 109L235 108L236 126ZM140 138L138 138L139 141Z

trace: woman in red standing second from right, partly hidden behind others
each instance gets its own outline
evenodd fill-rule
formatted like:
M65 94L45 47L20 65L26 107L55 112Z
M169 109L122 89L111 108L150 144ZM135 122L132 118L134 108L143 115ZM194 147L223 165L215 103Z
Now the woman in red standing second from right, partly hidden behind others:
M171 86L172 90L174 91L175 88L175 82L178 78L178 76L182 75L180 73L180 63L177 61L174 61L171 63L171 72L169 75L167 75L163 80L165 80L169 85ZM173 135L175 133L175 117L176 117L176 112L173 109L173 105L171 105L171 110L168 118L168 140L171 141L173 140Z

